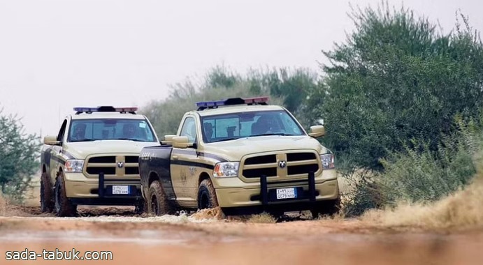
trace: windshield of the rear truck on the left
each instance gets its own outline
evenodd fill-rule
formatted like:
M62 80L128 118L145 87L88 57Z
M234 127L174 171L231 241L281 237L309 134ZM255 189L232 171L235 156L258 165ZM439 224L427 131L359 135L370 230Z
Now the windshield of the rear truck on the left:
M156 142L152 129L144 119L82 119L73 120L68 142L125 139Z

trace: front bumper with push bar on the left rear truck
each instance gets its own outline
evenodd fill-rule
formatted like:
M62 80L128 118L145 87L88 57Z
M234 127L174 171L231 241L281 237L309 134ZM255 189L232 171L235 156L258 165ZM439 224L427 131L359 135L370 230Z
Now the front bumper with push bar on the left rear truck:
M66 173L66 195L73 203L89 205L134 205L141 198L140 179L87 178L82 173ZM128 193L113 194L113 185L127 186ZM131 201L133 203L131 203Z

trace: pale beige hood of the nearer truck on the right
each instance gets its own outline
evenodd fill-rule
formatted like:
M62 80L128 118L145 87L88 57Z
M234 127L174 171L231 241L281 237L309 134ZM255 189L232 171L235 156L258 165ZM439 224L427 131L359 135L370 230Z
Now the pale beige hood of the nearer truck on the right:
M254 153L289 150L315 150L318 153L329 153L322 144L312 137L301 136L259 136L247 137L226 142L205 144L205 151L230 161L239 161L243 156Z

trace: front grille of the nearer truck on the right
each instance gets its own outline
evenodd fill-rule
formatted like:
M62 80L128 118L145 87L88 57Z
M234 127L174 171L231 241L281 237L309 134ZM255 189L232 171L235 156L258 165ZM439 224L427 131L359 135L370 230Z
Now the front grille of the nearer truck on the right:
M280 167L280 161L287 162L285 167ZM294 153L273 153L262 156L252 156L242 160L240 167L245 178L259 178L261 175L293 177L307 175L309 172L319 170L317 153L315 152L294 152Z

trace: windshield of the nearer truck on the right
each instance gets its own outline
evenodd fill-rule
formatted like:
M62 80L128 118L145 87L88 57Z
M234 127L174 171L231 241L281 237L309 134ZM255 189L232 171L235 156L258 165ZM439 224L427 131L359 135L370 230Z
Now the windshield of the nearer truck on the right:
M201 117L203 142L221 142L264 135L305 135L284 110L239 112Z

